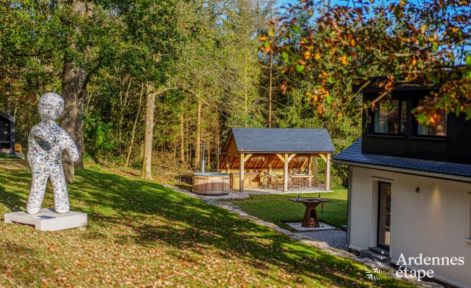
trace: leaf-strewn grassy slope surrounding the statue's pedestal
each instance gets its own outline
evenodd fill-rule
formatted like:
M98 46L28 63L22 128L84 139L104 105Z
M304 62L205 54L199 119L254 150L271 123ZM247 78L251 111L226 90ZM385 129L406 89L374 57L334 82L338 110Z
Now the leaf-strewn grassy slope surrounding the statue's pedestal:
M30 172L0 162L0 213L24 209ZM71 206L87 231L0 224L0 287L368 287L363 266L334 258L156 183L77 172ZM44 207L53 206L48 188Z

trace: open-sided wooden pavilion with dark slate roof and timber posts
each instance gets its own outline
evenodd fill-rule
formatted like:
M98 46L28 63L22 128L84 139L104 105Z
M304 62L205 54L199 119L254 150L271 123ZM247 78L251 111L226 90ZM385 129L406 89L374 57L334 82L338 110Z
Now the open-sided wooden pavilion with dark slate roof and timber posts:
M311 161L318 156L326 163L325 190L330 190L330 161L335 152L326 129L285 128L232 128L219 156L219 171L231 174L236 179L232 188L251 182L261 172L271 174L283 171L283 191L288 191L289 170L305 170L311 174ZM249 170L250 177L246 170ZM237 177L236 177L237 176Z

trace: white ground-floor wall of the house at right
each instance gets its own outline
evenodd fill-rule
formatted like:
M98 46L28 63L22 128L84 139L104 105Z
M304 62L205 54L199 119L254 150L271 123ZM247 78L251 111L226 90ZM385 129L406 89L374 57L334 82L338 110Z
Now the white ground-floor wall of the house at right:
M350 248L376 246L377 183L392 183L392 262L407 257L465 257L463 266L433 266L435 277L471 287L471 184L350 166ZM420 192L416 192L420 188ZM425 269L425 266L412 268Z

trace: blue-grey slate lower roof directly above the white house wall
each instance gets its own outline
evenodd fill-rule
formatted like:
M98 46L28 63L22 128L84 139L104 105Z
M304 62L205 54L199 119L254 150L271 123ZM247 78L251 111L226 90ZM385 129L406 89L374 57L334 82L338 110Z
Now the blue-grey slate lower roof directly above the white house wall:
M359 163L360 166L361 164L378 165L456 177L471 177L471 165L467 164L361 153L361 139L334 156L334 162L348 165Z

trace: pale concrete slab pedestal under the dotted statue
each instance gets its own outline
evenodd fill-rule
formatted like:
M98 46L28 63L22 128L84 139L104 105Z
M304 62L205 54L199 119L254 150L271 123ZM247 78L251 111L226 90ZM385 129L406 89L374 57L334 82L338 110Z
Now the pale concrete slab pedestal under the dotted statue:
M69 211L69 213L55 213L53 208L41 209L39 213L30 215L24 211L5 214L6 223L21 223L35 226L40 231L60 231L71 228L85 230L87 227L87 214Z

